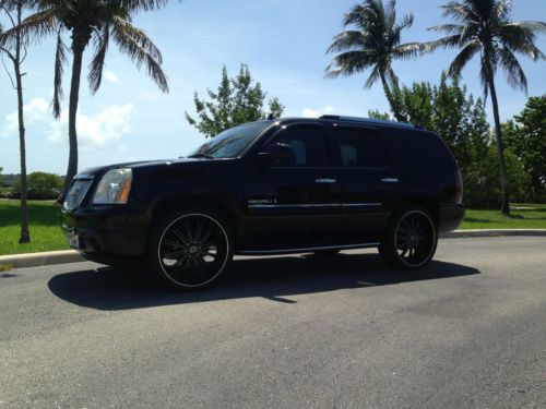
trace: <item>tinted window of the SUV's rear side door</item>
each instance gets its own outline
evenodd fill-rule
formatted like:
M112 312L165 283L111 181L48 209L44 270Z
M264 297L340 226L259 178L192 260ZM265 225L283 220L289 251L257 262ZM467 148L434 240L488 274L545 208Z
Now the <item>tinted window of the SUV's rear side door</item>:
M337 128L333 137L334 149L342 167L381 168L387 155L375 131Z

